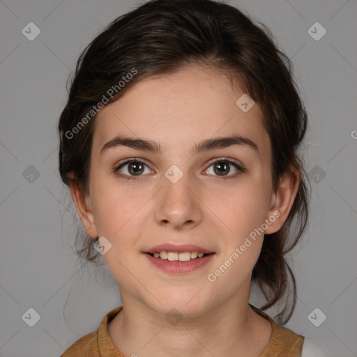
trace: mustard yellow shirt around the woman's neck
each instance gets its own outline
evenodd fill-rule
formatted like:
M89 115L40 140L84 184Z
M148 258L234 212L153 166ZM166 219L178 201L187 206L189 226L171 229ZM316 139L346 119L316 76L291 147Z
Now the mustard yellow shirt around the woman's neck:
M271 322L271 340L259 357L301 357L304 337L296 335L289 328L275 324L273 319L257 307L250 305L258 314ZM89 333L72 344L60 357L126 357L112 343L107 333L108 322L123 308L123 305L109 311L102 319L98 331Z

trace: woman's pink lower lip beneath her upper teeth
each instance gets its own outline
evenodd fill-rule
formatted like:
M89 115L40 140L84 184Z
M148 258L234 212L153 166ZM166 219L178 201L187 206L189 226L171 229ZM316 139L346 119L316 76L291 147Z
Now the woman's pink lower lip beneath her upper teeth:
M205 255L201 258L191 259L189 261L169 261L168 259L155 258L148 253L144 253L146 257L158 268L167 273L190 273L201 266L205 266L213 258L215 253Z

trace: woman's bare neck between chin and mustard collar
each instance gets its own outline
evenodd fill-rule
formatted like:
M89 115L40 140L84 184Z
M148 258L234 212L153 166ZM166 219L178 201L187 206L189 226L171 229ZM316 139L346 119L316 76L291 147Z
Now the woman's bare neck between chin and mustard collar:
M121 291L123 309L109 322L114 346L125 356L257 357L271 337L271 324L248 298L214 305L197 316L169 317ZM138 327L139 326L139 327Z

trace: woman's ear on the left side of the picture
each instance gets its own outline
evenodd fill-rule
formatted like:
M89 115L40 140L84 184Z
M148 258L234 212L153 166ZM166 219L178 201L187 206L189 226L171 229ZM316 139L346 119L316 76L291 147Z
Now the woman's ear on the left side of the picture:
M98 231L96 223L94 222L89 195L86 195L75 183L70 183L70 195L72 196L73 202L75 202L77 213L84 225L86 234L92 238L96 238Z

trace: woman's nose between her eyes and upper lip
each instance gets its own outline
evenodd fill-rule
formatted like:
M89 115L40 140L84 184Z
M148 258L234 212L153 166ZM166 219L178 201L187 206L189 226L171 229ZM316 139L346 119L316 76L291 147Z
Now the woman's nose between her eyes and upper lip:
M195 227L202 221L202 202L199 199L202 189L194 185L189 174L181 179L170 181L162 178L163 187L156 197L155 220L158 225L171 226L176 230Z

